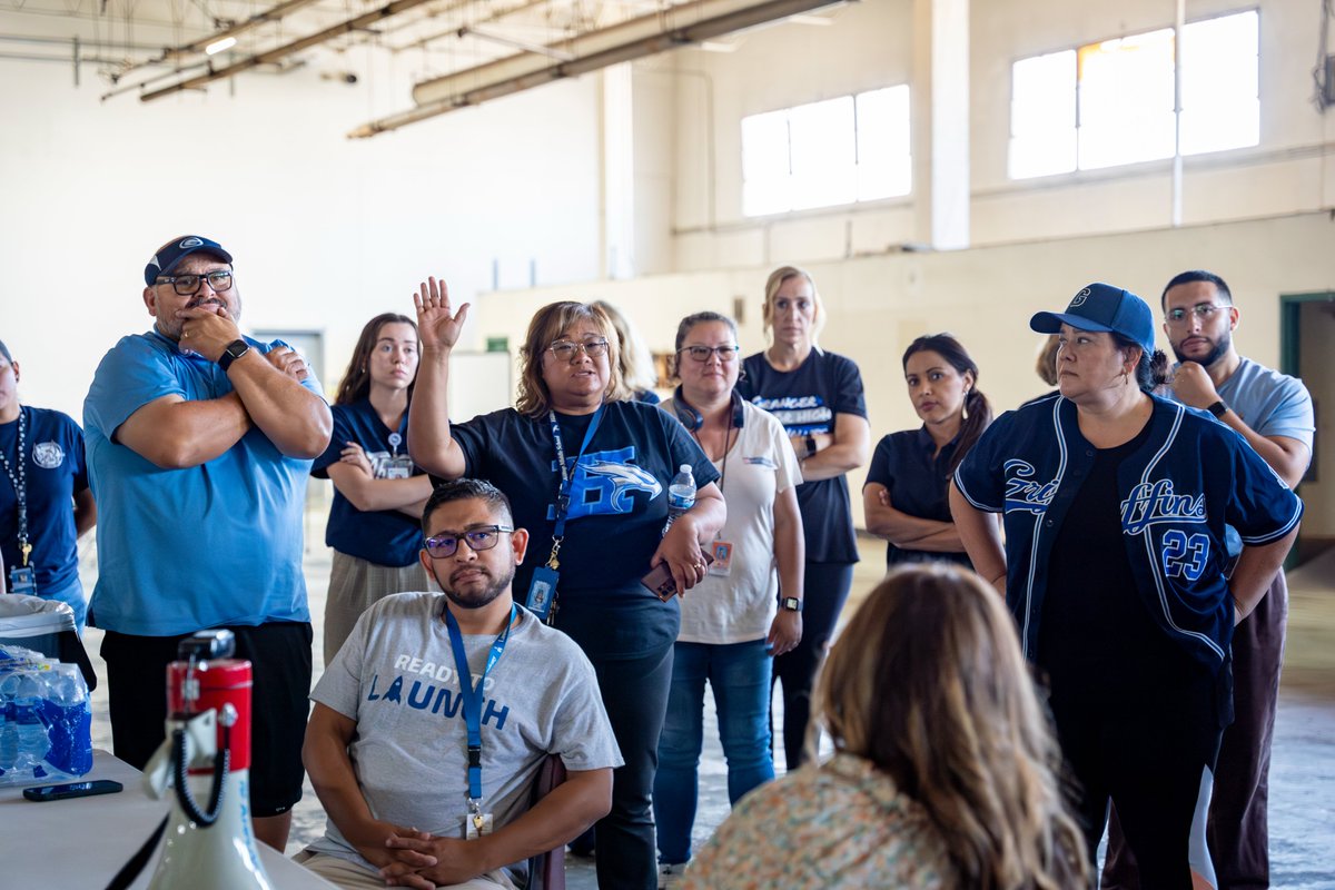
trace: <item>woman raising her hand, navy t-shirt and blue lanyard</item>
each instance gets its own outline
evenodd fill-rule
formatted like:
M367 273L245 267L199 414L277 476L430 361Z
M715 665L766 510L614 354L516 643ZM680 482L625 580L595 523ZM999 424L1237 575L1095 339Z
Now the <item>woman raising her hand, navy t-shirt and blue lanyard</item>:
M450 352L467 304L451 311L443 282L415 295L422 370L413 400L414 459L446 479L474 476L506 492L529 554L517 596L569 634L593 662L626 765L613 774L611 813L597 826L598 883L658 886L650 793L681 627L676 598L639 579L666 563L678 590L705 578L701 547L724 524L718 471L674 418L626 400L617 335L583 303L538 310L521 352L514 408L451 426ZM663 534L668 484L690 464L696 506Z

